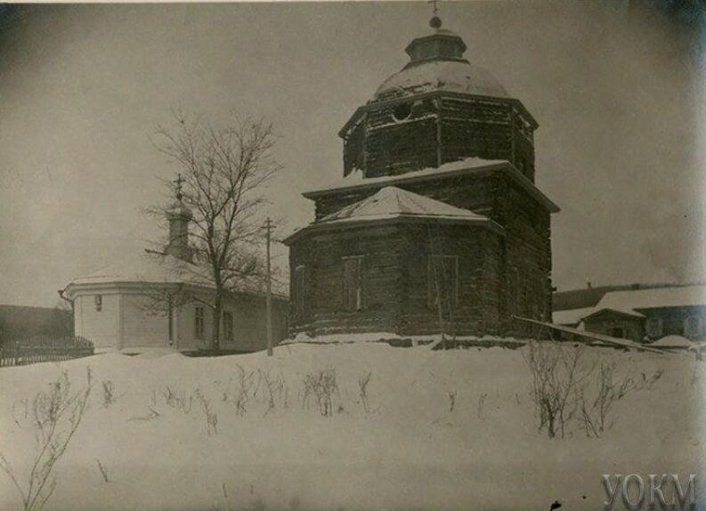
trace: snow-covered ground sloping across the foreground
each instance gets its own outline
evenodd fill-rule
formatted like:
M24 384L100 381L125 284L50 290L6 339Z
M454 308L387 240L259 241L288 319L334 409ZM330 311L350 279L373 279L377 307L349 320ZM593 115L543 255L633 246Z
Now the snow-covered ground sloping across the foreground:
M601 474L614 473L693 472L697 496L706 494L699 465L706 371L692 358L592 348L591 356L613 358L636 380L657 369L663 375L615 404L615 424L601 438L572 425L567 438L550 440L537 431L526 349L286 345L272 358L112 353L0 369L0 452L15 472L26 471L34 439L23 400L31 403L64 369L77 388L90 366L90 408L57 465L45 509L545 510L559 500L563 509L595 510L605 500ZM260 381L245 413L235 404L238 366L252 377L251 394ZM304 378L322 369L336 372L332 417L303 402ZM366 412L359 378L369 373ZM118 398L104 406L109 381ZM207 433L199 402L188 413L168 405L167 386L187 401L198 388L217 431ZM0 509L20 508L0 473Z

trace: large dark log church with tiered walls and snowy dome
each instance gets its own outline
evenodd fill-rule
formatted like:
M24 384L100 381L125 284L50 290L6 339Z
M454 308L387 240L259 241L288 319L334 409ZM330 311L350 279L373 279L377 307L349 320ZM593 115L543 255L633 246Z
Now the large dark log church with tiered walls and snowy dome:
M339 132L340 183L285 240L290 334L522 336L551 318L550 215L521 101L431 29Z

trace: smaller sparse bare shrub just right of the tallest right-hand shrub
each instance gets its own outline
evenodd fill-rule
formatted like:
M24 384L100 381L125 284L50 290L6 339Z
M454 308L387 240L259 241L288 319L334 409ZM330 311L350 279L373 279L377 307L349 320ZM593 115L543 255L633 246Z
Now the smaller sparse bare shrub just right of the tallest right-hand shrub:
M577 390L581 411L580 421L589 437L599 437L606 429L613 426L613 422L608 422L613 404L636 388L630 377L617 376L617 368L618 364L614 361L600 361L596 376L592 380L593 385L589 382ZM594 391L592 396L587 397L591 390Z

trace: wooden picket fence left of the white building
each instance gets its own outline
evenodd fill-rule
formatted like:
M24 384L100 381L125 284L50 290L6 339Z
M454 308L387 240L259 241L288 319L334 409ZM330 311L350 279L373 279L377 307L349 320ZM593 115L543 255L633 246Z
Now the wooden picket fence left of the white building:
M85 337L31 337L0 345L0 367L69 361L90 355L93 343Z

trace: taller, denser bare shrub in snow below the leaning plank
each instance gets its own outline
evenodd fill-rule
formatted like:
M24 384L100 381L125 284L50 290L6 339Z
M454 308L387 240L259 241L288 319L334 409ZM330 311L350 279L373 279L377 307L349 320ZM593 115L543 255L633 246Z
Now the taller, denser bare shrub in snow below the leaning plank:
M591 369L580 367L584 346L563 346L550 341L532 341L523 358L532 372L532 402L540 431L549 438L564 438L566 425L578 408L576 389Z

